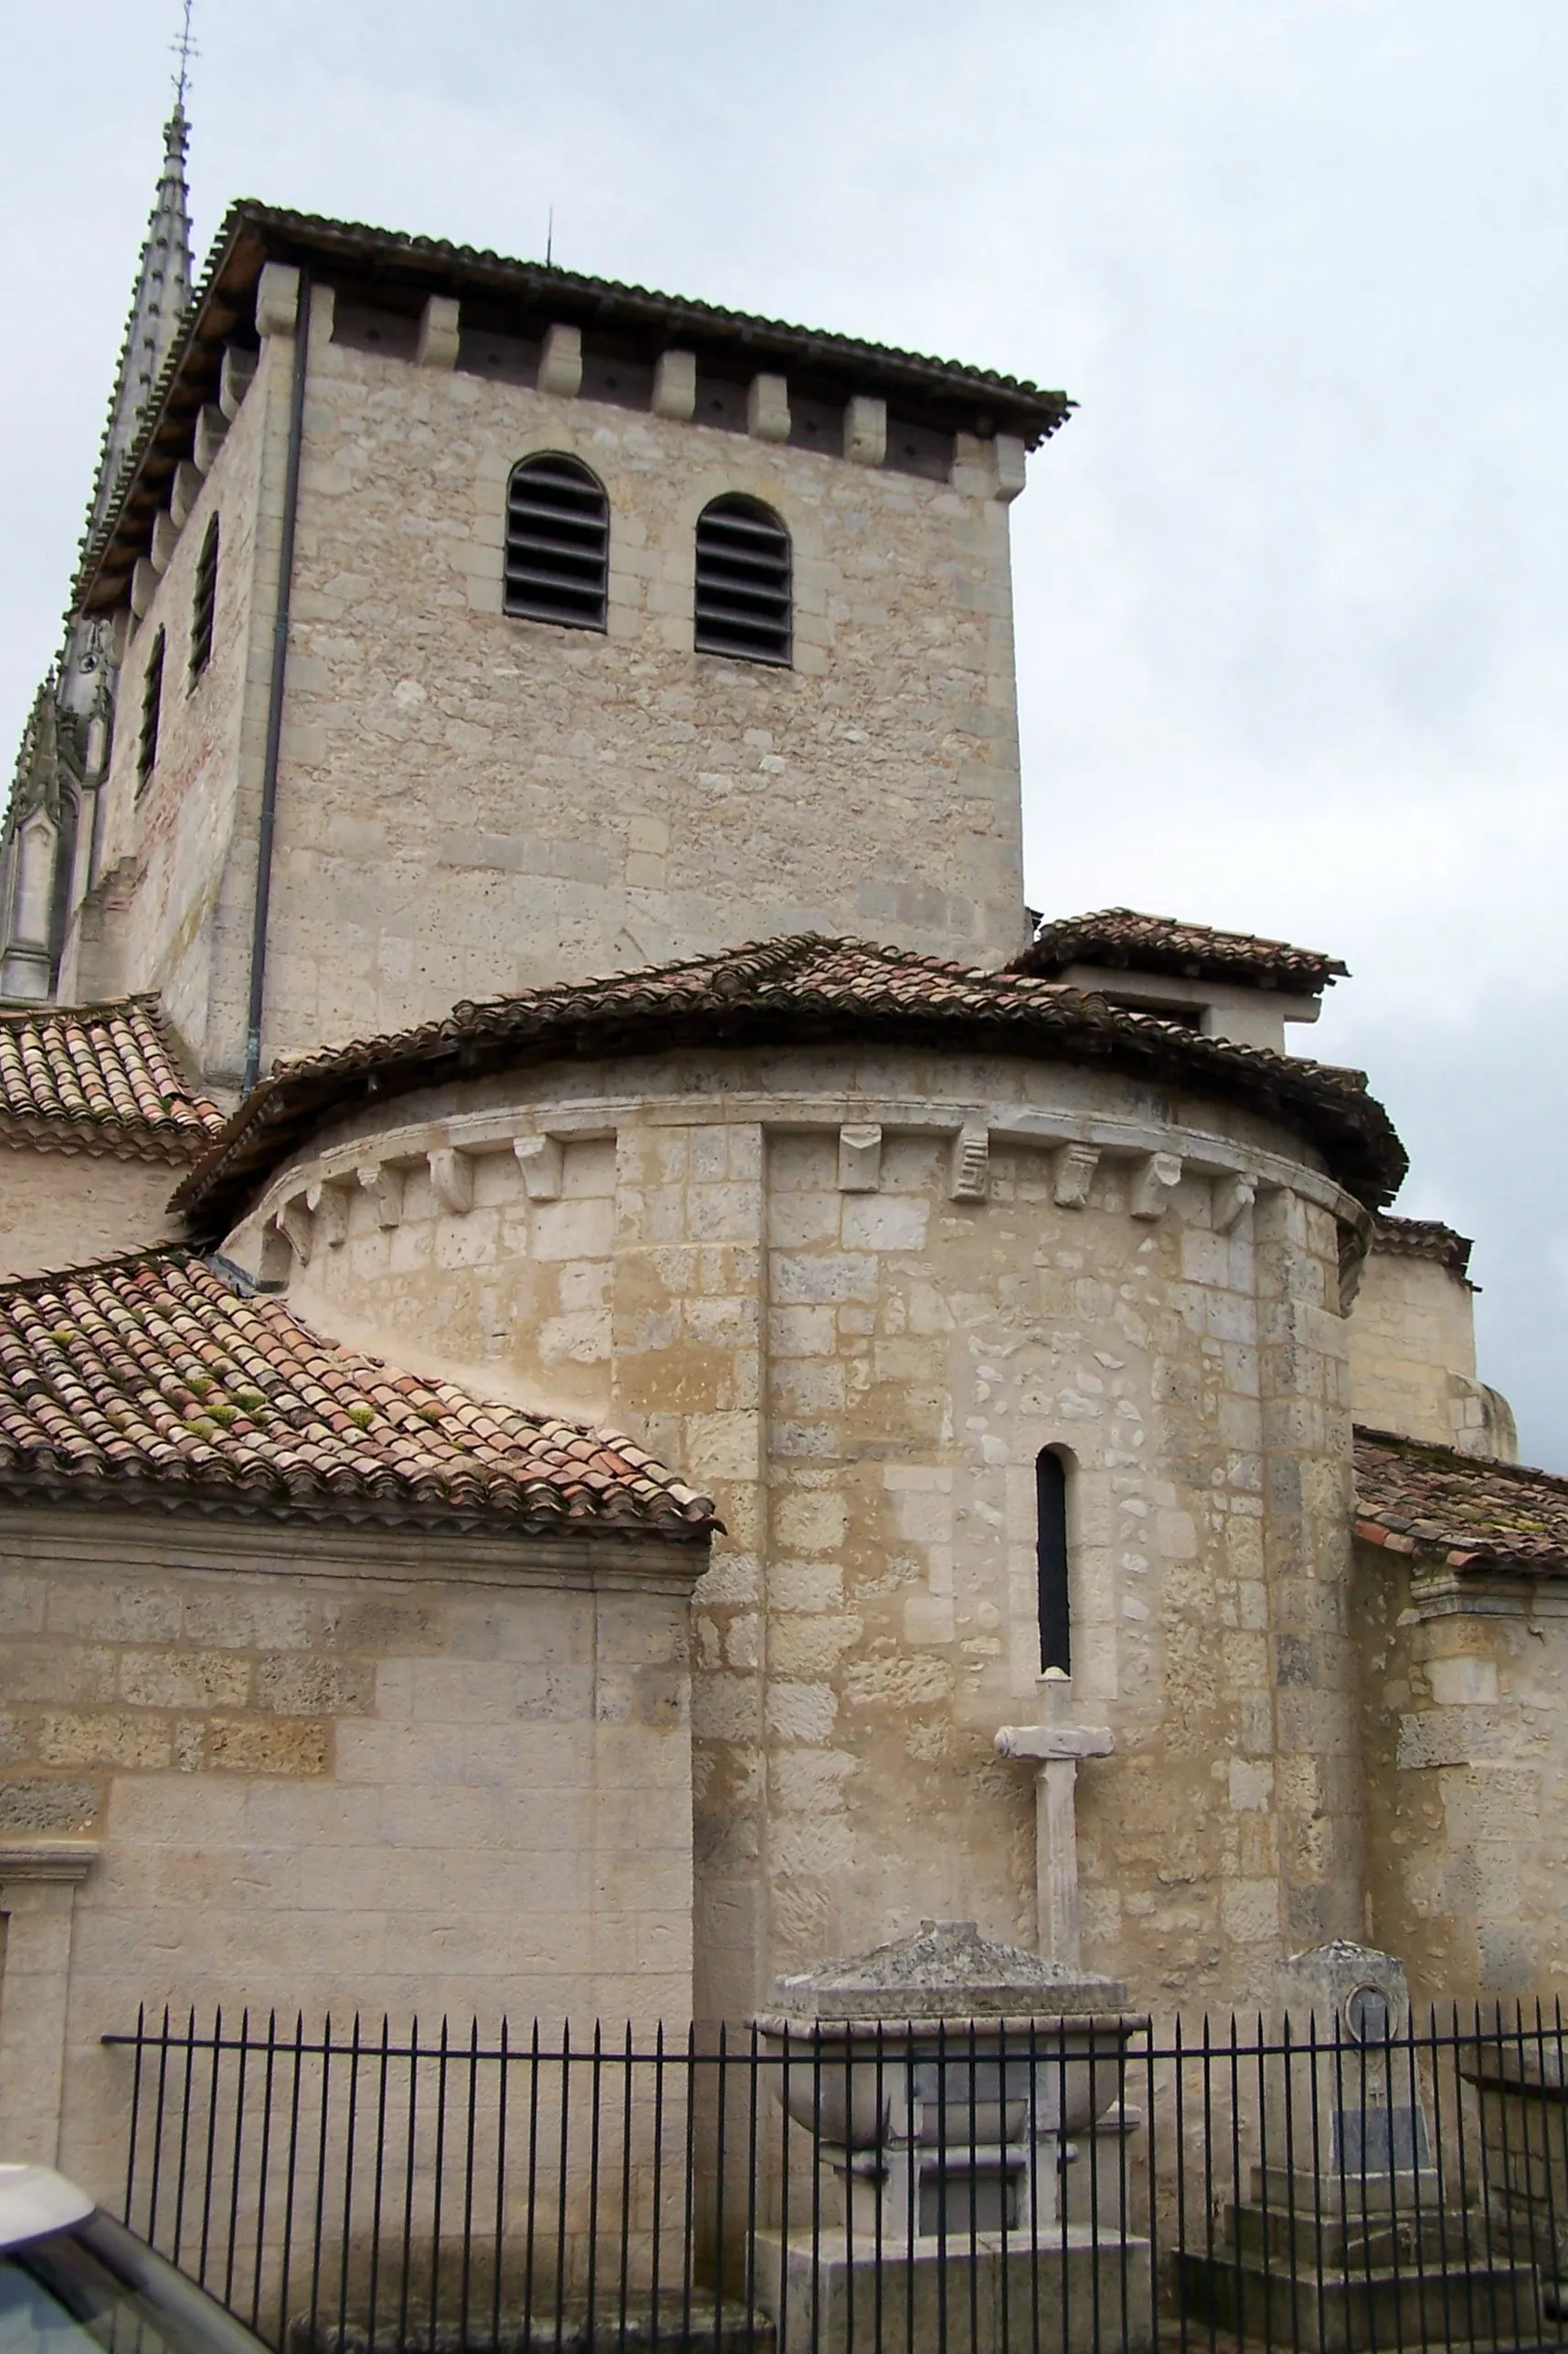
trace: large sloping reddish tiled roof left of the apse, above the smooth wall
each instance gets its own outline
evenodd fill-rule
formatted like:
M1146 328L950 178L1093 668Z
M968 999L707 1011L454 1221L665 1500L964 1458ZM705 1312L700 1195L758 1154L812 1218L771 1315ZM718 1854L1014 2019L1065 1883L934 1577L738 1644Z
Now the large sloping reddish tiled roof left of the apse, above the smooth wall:
M339 1349L184 1252L0 1290L0 1497L527 1537L716 1528L629 1438Z

